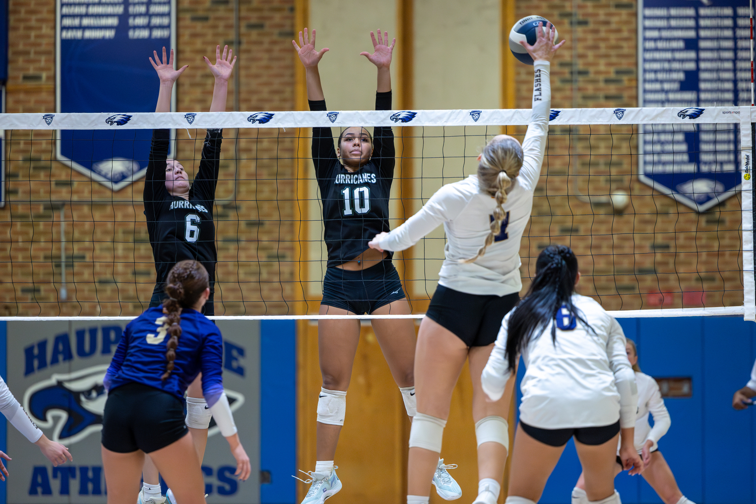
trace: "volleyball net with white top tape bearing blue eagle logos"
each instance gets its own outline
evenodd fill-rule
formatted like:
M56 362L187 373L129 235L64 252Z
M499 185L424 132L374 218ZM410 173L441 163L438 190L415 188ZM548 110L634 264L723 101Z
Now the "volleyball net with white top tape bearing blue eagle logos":
M578 292L616 316L754 320L751 107L552 110L520 247L527 289L552 243L578 256ZM530 110L0 115L0 316L134 317L155 284L144 217L153 128L194 178L223 128L215 193L220 317L313 317L327 252L311 128L392 126L391 227L476 173L493 135L522 141ZM355 201L359 204L359 201ZM444 258L442 227L395 254L413 314ZM398 317L398 316L390 316Z

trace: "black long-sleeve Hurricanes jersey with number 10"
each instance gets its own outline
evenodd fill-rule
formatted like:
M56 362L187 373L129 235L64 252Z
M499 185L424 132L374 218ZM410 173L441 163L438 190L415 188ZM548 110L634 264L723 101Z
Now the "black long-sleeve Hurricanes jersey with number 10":
M325 100L310 101L310 110L327 110ZM376 93L376 110L391 110L391 91ZM394 132L373 129L373 156L356 172L339 162L331 128L312 128L312 162L321 189L328 267L352 261L367 242L389 231L389 195L394 179ZM391 258L393 252L389 252Z

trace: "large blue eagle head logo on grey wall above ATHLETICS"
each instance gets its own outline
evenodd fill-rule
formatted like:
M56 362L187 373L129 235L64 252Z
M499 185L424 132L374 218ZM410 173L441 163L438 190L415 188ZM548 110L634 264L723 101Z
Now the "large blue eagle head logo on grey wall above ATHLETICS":
M102 430L107 391L103 385L109 364L79 369L73 373L55 373L38 382L23 394L23 409L39 428L51 428L50 439L73 444ZM231 411L244 404L244 395L225 390ZM218 434L215 420L208 435Z

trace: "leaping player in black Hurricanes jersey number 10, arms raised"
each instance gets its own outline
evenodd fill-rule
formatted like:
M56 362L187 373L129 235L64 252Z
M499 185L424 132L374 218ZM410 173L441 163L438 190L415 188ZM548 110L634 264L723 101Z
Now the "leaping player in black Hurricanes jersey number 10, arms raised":
M378 70L376 110L391 110L390 66L395 40L388 33L370 32L373 54L363 52ZM305 66L310 110L327 110L318 63L328 51L316 51L315 30L308 39L299 32L299 45L292 41ZM389 193L394 178L394 134L390 127L345 128L333 147L330 128L312 128L312 162L323 202L327 271L323 283L321 314L410 314L401 280L392 264L392 253L370 249L367 242L376 233L389 230ZM401 390L407 414L414 416L414 322L373 320L373 330L392 376ZM318 320L318 353L323 387L318 394L317 462L306 472L312 483L302 504L322 504L341 489L333 456L344 425L346 390L360 335L360 321ZM440 479L439 479L440 478ZM451 477L442 461L434 478L441 494ZM451 480L454 482L453 480ZM456 482L454 482L456 485ZM457 486L458 488L458 486ZM457 498L447 493L445 498Z

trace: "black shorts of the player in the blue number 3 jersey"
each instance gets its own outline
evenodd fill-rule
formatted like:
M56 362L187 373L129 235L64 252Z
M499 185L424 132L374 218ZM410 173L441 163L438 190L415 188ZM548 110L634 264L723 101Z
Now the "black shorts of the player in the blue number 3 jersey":
M187 434L184 404L178 397L141 383L127 383L107 394L102 445L116 453L150 453Z

